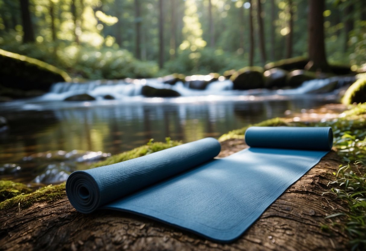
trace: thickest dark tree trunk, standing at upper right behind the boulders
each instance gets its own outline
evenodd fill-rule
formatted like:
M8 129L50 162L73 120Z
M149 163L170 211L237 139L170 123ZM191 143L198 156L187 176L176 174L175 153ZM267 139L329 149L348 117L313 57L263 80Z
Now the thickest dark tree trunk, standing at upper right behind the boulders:
M309 63L306 70L329 71L324 46L324 0L308 0L307 17Z

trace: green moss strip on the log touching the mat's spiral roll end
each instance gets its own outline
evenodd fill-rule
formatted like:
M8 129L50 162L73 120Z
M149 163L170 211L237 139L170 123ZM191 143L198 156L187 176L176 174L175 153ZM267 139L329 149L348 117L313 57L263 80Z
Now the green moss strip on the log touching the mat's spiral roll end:
M56 186L42 187L30 194L20 194L0 203L0 211L18 206L20 208L29 207L35 202L52 202L63 198L66 195L65 182Z

